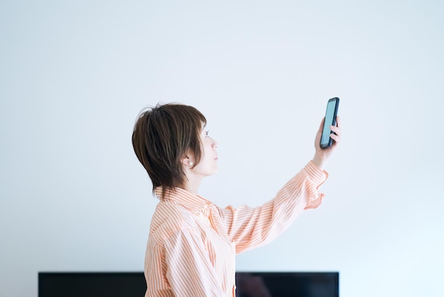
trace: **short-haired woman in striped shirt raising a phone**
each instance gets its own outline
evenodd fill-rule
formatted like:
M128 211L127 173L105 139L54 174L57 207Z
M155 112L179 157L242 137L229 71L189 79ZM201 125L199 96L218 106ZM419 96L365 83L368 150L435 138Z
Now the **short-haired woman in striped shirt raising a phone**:
M316 208L326 180L323 167L340 142L316 152L276 197L260 207L221 208L201 197L199 185L217 171L217 143L194 107L157 104L140 114L133 147L160 198L145 254L145 296L235 296L235 254L260 247L287 229L302 210Z

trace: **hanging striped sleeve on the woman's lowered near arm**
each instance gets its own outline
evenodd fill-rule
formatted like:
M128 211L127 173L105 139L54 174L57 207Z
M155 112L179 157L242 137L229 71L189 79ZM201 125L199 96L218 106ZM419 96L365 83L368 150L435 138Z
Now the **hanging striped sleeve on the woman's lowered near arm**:
M165 242L167 280L174 296L226 296L201 237L181 230Z

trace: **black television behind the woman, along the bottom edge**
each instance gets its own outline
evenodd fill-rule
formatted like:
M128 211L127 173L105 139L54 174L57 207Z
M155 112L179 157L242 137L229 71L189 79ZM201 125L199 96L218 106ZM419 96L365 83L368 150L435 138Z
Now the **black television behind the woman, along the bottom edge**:
M239 271L236 286L236 297L338 297L339 273ZM38 297L143 297L145 291L143 272L38 273Z

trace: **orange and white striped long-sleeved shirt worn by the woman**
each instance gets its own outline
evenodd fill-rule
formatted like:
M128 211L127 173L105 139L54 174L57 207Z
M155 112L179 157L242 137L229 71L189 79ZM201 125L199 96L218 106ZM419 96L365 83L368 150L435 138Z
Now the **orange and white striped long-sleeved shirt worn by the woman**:
M221 208L181 188L167 191L150 225L145 297L234 297L235 254L271 242L302 210L318 207L327 177L311 161L260 207Z

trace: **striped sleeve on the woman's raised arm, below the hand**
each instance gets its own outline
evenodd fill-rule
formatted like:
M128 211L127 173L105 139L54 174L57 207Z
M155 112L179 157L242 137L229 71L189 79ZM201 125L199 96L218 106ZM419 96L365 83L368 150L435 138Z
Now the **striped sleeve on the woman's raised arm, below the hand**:
M310 161L279 190L273 200L260 207L231 206L222 211L228 236L235 243L236 253L260 247L278 237L306 209L321 205L319 186L328 178Z

